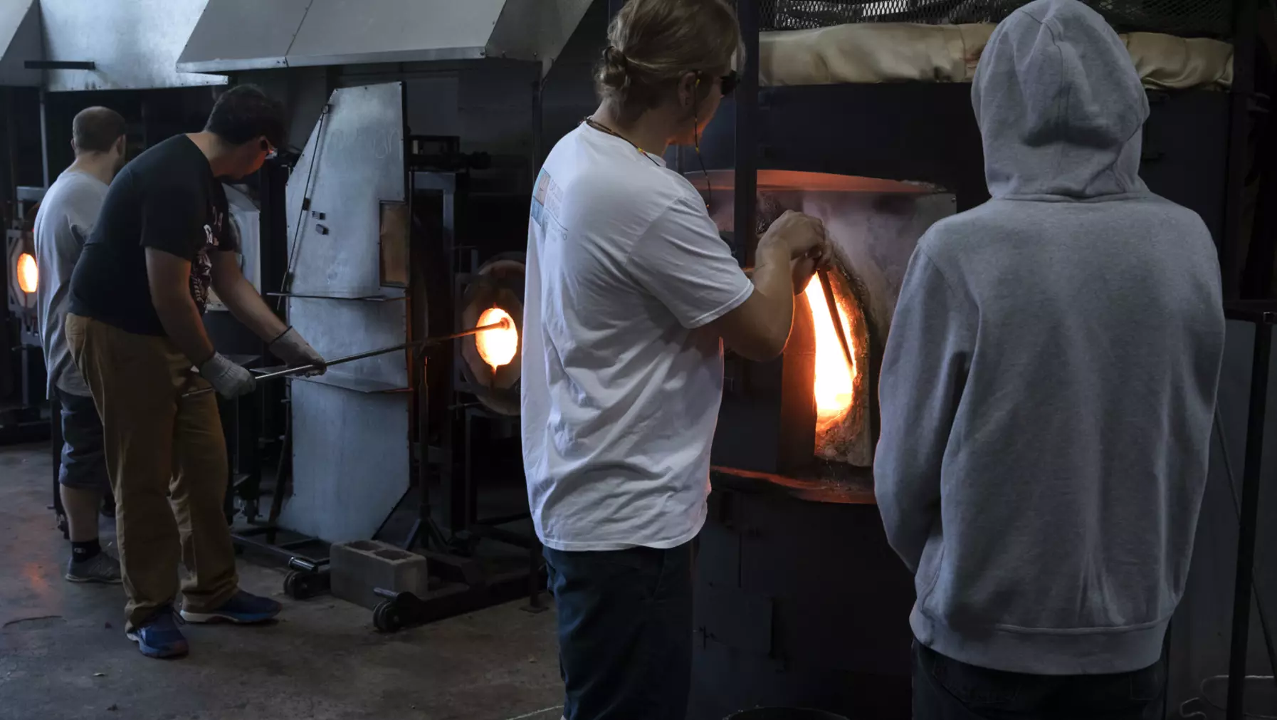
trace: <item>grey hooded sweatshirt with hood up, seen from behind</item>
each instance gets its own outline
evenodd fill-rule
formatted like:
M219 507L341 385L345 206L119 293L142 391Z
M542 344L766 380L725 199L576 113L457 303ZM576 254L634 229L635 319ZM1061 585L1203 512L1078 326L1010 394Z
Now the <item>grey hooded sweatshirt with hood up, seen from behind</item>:
M1148 101L1083 4L1002 22L972 103L994 199L919 241L880 379L875 489L911 623L996 670L1147 668L1207 477L1216 250L1139 179Z

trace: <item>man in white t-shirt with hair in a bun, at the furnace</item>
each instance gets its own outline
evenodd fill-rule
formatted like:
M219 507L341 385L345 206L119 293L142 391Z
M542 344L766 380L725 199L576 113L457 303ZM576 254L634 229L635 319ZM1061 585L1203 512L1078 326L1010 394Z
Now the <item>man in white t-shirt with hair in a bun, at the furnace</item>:
M778 355L794 278L802 287L827 253L820 222L788 213L760 240L751 281L705 200L661 160L734 86L737 32L722 0L631 0L599 71L603 105L559 140L535 186L524 467L567 720L686 712L691 541L710 490L723 345Z

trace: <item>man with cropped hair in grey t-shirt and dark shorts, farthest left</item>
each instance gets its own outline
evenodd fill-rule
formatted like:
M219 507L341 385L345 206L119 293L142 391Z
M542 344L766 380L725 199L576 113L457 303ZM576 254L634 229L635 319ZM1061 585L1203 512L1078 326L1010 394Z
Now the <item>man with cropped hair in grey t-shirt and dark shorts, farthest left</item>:
M57 480L72 557L66 580L120 582L119 562L102 551L97 512L110 486L102 423L64 334L72 271L97 221L107 184L124 166L124 117L106 107L82 110L73 121L72 163L45 193L36 213L36 286L49 397L61 406L63 453Z

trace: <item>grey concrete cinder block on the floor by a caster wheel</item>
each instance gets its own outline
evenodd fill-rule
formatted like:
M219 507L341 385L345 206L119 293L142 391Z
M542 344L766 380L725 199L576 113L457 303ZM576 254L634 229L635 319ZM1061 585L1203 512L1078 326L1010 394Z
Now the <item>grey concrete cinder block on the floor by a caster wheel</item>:
M332 594L372 610L384 600L375 590L424 596L430 589L425 558L379 540L354 540L332 546L328 555Z

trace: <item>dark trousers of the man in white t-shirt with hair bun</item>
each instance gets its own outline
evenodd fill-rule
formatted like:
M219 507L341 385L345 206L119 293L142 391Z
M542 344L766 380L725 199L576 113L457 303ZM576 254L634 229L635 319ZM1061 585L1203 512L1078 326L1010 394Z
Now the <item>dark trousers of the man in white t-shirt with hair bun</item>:
M567 720L682 720L692 674L692 544L545 549Z

